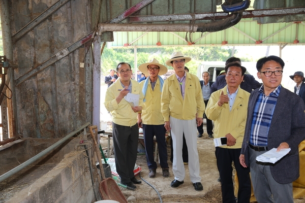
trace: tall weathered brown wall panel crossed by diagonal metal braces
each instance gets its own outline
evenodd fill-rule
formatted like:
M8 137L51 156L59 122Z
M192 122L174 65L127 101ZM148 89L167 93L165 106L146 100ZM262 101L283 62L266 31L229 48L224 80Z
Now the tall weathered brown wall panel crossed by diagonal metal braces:
M56 2L11 1L11 8L14 8L11 10L12 33ZM13 45L14 62L18 64L15 80L88 35L92 27L90 15L89 0L70 1L17 41ZM86 83L92 86L92 81L84 79L84 68L80 70L79 64L81 60L84 62L84 54L83 48L81 52L76 50L16 86L20 135L63 137L85 123L87 106L84 105L84 86L88 85Z

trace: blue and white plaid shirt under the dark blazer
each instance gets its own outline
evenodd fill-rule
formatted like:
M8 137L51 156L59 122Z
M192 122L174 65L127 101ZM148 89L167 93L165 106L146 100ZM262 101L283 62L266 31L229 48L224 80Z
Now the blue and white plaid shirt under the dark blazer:
M281 85L273 90L269 96L264 94L263 86L259 89L259 95L254 107L250 144L254 146L267 146L268 132L275 111L278 97L281 91Z

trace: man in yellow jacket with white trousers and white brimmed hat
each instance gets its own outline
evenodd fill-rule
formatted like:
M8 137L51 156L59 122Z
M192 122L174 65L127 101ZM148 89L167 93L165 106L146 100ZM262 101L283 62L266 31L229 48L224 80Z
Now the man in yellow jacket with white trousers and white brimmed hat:
M161 112L167 131L171 130L173 139L173 174L172 187L184 183L185 168L182 160L183 133L189 152L190 179L195 190L203 190L197 151L197 126L201 125L205 105L197 76L185 72L185 63L191 60L181 52L174 52L166 64L173 66L175 74L168 77L163 85ZM197 124L196 124L197 122Z

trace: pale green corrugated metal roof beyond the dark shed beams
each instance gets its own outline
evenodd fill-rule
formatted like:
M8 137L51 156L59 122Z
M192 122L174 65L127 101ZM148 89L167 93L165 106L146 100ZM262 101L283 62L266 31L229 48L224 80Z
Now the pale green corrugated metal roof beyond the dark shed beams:
M188 33L189 43L186 32L114 32L114 42L108 47L156 47L158 42L162 46L297 45L305 44L304 27L305 22L258 24L255 20L241 19L223 31ZM295 43L296 40L299 42Z

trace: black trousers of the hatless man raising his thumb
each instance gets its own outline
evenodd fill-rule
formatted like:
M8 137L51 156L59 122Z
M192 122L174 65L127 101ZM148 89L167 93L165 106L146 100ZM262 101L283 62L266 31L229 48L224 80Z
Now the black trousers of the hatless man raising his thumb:
M236 203L234 196L234 187L232 180L232 161L238 177L238 202L250 202L251 196L251 180L250 167L243 167L239 163L239 155L241 149L226 149L216 147L215 155L217 159L217 167L221 179L222 199L225 203Z

